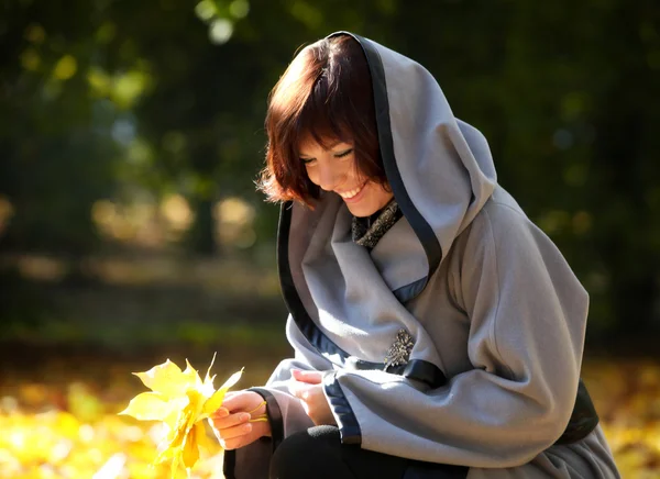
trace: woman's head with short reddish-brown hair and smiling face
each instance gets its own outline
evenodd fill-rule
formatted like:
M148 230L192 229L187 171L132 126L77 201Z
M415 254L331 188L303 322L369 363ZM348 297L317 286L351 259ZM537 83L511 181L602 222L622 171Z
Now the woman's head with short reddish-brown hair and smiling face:
M327 64L330 57L333 62ZM362 57L360 44L339 36L318 49L302 51L273 89L266 168L260 181L271 201L299 200L314 207L320 190L345 199L369 182L370 201L360 207L359 198L352 202L354 214L364 216L392 198L369 68L364 59L356 60Z

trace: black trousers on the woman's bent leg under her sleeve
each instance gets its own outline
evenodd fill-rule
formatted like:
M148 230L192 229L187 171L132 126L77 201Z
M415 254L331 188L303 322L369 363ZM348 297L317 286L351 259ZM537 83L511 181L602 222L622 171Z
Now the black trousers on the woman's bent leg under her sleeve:
M316 426L282 442L271 479L462 479L468 468L405 459L342 445L334 426Z

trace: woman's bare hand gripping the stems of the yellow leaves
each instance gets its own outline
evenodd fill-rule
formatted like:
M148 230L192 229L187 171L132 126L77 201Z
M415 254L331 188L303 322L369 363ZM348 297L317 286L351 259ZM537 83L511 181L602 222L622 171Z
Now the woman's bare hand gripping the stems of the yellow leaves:
M266 413L263 402L264 399L253 391L227 393L222 406L211 414L213 427L224 449L238 449L271 435L271 424L267 421L249 422Z

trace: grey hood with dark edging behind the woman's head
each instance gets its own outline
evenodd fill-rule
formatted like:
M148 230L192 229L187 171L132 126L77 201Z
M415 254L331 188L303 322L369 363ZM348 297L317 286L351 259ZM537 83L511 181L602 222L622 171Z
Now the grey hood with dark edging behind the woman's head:
M387 180L426 255L426 271L395 291L399 300L409 301L424 290L455 237L493 193L497 179L493 158L484 135L454 118L425 67L350 32L328 37L337 35L352 36L364 51ZM282 243L288 243L290 209L290 203L283 205L280 252ZM297 227L315 227L314 216L307 226Z

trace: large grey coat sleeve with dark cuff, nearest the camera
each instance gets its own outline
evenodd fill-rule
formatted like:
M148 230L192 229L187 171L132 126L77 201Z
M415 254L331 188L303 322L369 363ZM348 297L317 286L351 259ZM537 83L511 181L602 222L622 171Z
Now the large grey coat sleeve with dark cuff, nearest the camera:
M473 369L431 390L383 371L327 372L342 442L501 468L529 461L562 434L578 390L587 294L552 242L513 208L491 203L464 234L455 299L470 318Z

